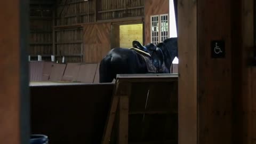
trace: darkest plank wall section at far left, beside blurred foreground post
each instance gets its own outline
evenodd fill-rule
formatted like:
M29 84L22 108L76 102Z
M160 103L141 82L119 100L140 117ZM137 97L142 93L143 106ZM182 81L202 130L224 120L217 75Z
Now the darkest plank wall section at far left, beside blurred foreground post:
M52 47L52 6L30 5L30 47L28 54L31 60L51 60Z

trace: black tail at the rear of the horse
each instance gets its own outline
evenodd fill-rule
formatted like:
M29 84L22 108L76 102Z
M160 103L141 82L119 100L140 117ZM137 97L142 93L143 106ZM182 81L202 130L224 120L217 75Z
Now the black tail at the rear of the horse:
M114 79L111 74L111 56L103 58L99 68L100 83L111 83Z

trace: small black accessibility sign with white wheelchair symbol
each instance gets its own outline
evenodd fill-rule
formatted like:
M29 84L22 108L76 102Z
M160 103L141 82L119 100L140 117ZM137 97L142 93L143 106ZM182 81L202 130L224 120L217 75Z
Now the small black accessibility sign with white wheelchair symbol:
M212 41L211 42L211 55L212 58L225 58L225 41Z

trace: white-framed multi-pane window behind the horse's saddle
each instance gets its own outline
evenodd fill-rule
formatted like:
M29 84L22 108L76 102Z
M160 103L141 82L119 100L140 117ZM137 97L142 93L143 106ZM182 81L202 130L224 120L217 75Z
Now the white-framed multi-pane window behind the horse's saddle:
M157 44L157 43L160 43L160 42L162 42L161 41L161 38L162 38L162 20L161 20L161 17L165 17L165 16L167 16L167 20L164 20L165 22L167 22L167 26L165 26L165 28L167 29L167 35L165 35L164 36L164 39L166 39L166 38L169 38L169 35L170 35L170 30L169 30L169 14L168 13L166 13L166 14L158 14L158 15L150 15L150 42L151 43L153 43L153 44ZM157 38L158 38L158 41L153 41L152 39L155 37L153 37L153 30L152 30L152 23L153 22L155 22L155 21L152 21L152 18L154 18L154 17L157 17L158 18L158 31L157 31L157 33L158 33L158 36L157 36ZM163 41L164 41L164 39L163 39Z

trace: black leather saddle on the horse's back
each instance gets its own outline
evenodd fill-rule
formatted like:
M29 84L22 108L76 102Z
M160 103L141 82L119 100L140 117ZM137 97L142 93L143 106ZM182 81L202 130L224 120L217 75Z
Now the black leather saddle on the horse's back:
M150 60L153 62L153 65L156 68L156 73L161 72L160 69L163 67L164 64L164 55L159 47L152 43L143 46L138 41L133 41L132 46L143 52L149 53L151 55Z

